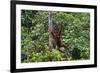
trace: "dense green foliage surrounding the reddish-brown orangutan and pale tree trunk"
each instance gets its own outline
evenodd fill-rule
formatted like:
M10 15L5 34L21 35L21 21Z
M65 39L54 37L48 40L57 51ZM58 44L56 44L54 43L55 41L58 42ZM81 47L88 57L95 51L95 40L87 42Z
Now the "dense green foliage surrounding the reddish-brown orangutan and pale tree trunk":
M64 28L61 52L48 47L48 12L21 11L21 62L85 60L90 57L90 15L79 12L53 12L53 24Z

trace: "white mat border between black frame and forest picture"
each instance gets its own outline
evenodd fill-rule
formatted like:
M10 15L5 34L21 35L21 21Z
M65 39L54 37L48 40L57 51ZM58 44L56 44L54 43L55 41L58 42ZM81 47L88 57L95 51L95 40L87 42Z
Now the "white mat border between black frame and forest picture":
M90 60L21 63L21 9L90 13ZM16 5L16 69L94 64L94 10L70 7Z

